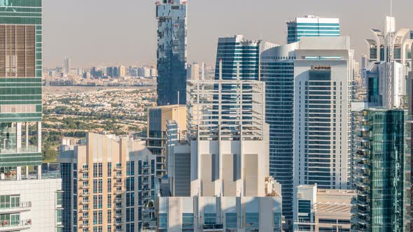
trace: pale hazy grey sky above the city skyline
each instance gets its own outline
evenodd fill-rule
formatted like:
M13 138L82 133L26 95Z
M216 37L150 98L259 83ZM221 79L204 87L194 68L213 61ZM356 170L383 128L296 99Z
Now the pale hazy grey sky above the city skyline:
M286 20L339 17L342 35L365 53L370 28L381 29L390 0L188 0L188 61L215 59L219 36L244 34L286 43ZM155 64L155 0L43 0L44 66ZM413 28L413 1L393 0L398 29Z

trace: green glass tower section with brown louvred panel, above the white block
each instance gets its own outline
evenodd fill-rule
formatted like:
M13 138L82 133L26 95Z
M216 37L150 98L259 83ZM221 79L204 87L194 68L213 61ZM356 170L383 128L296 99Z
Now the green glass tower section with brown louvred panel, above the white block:
M41 1L0 1L0 168L41 165Z

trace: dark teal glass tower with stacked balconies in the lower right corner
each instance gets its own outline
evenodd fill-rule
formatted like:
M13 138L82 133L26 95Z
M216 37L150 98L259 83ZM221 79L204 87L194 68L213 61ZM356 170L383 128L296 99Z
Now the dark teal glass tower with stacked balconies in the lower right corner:
M353 231L409 231L410 151L407 112L358 113Z

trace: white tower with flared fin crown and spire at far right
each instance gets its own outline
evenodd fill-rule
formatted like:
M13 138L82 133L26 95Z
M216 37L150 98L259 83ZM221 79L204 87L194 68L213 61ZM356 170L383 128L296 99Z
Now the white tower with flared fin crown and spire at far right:
M386 17L384 29L372 29L367 39L367 96L374 106L400 107L406 96L406 79L411 70L410 30L395 29L395 18Z

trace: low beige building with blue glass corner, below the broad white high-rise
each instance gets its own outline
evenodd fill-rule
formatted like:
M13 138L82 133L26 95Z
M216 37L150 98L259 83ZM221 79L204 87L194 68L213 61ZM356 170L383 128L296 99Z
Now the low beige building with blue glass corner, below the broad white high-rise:
M294 231L351 231L354 190L318 189L317 184L297 187Z

